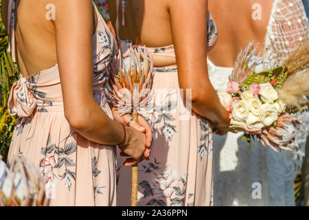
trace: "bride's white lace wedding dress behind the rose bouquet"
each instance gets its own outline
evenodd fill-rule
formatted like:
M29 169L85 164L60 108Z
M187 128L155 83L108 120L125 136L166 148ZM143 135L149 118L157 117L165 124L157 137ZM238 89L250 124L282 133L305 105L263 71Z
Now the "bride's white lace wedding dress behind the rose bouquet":
M286 28L289 27L289 28ZM269 54L283 61L308 30L301 0L275 0L265 37ZM292 45L292 46L291 46ZM216 67L208 60L209 78L215 89L225 89L231 68ZM214 135L214 206L294 206L294 179L301 167L308 135L309 113L302 113L305 131L299 131L300 148L276 153L243 133ZM260 194L259 194L260 193Z

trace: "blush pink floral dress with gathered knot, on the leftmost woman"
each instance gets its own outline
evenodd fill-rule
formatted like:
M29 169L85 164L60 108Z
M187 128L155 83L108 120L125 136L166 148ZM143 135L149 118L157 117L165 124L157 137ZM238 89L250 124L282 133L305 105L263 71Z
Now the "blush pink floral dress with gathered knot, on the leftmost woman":
M10 48L15 61L15 0L9 2ZM112 118L106 104L109 63L116 42L98 10L93 35L93 96ZM12 25L10 25L12 23ZM91 142L67 122L63 109L58 65L14 83L8 100L18 118L8 162L21 153L39 168L51 206L115 206L115 146Z

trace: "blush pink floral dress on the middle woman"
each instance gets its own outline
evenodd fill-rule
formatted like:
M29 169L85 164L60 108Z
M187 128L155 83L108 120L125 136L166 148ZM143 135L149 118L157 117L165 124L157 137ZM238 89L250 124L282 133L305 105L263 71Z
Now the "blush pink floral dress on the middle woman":
M208 50L214 47L217 36L218 30L209 14ZM124 56L128 55L129 45L144 50L131 41L119 39L119 43ZM150 56L175 56L174 45L146 47L146 50ZM154 108L147 109L143 115L152 124L154 140L151 159L138 166L138 205L212 206L213 146L209 122L185 108L176 65L155 67L152 90ZM118 156L117 205L129 206L131 168L122 166L123 162L124 157Z

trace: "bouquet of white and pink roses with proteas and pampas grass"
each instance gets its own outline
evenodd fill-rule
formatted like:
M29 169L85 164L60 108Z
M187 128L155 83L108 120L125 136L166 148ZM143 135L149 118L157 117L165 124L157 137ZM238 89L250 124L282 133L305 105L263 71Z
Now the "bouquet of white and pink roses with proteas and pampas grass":
M275 151L298 146L295 134L302 122L291 113L308 111L308 45L306 39L284 65L273 65L258 73L255 67L263 59L255 56L257 47L253 42L238 54L227 89L218 91L218 97L230 112L230 130L244 131L242 140L247 139L250 144L254 135ZM297 85L293 92L291 85Z

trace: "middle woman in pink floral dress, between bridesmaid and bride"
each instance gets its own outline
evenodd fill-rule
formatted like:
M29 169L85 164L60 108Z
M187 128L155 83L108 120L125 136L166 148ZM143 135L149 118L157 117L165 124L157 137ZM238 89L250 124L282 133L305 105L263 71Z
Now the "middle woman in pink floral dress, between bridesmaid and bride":
M207 75L207 52L218 36L207 0L117 0L108 5L124 56L131 44L141 50L146 45L154 58L155 108L144 115L155 129L154 148L150 161L139 164L139 206L211 206L210 121L225 132L229 113ZM184 100L192 102L191 113ZM117 174L117 204L128 206L130 170L119 165Z

